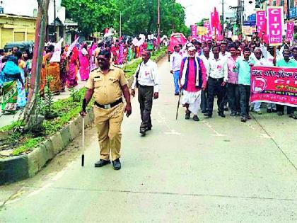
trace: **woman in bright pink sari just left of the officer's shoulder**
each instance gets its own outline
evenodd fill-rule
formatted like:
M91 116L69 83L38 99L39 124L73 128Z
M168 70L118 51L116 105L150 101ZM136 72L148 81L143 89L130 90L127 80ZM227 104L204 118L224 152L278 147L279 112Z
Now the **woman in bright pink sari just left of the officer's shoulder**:
M85 42L81 45L81 50L79 51L79 74L81 75L81 81L88 80L88 76L90 74L90 57L88 55L87 45Z

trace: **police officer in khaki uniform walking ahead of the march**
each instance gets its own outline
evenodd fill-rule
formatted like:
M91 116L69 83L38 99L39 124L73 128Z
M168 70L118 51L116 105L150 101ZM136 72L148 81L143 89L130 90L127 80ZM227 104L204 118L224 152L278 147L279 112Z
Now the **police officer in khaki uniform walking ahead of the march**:
M121 149L121 125L124 113L129 117L132 113L130 93L127 79L122 69L110 64L111 54L108 51L100 51L98 54L98 69L90 74L86 84L85 105L95 97L94 115L95 125L98 130L98 141L100 146L100 160L95 167L110 164L110 155L113 168L119 170ZM122 95L126 100L126 106L122 101ZM85 108L81 115L86 115Z

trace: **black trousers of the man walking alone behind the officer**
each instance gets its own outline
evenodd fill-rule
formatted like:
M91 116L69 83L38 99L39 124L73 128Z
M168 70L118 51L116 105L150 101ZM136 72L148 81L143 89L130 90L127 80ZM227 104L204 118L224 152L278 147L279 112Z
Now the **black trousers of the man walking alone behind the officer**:
M140 128L149 128L151 125L151 108L153 107L153 86L141 86L138 88L138 101L140 105Z

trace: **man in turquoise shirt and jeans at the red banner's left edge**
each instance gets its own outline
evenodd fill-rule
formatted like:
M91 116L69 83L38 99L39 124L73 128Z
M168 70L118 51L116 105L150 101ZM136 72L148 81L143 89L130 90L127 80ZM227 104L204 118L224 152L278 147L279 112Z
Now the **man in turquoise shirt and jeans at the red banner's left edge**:
M240 94L240 113L241 121L246 122L247 119L251 119L249 115L250 111L250 67L254 66L255 61L250 57L250 48L243 50L243 57L238 58L234 72L238 72L238 86Z

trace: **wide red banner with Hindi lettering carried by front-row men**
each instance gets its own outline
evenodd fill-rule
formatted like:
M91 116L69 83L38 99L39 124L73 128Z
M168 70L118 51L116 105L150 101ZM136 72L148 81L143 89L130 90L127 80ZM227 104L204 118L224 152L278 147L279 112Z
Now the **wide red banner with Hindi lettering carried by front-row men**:
M297 68L252 67L250 102L297 107Z

